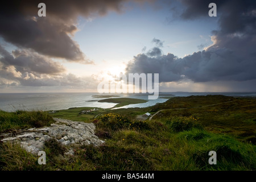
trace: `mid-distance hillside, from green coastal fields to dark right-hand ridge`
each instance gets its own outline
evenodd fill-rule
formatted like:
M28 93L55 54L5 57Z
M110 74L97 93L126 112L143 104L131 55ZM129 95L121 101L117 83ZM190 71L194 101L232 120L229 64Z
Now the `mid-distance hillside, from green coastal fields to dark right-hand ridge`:
M121 100L120 100L121 99ZM118 101L117 101L118 100ZM126 102L126 98L110 98L109 102ZM153 119L171 116L190 116L199 118L205 130L212 133L228 134L241 141L256 142L256 98L236 98L227 96L189 96L173 97L168 101L144 108L99 109L89 114L79 114L93 107L76 107L59 110L53 117L90 122L102 113L117 113L135 119L144 113L154 114L163 110Z

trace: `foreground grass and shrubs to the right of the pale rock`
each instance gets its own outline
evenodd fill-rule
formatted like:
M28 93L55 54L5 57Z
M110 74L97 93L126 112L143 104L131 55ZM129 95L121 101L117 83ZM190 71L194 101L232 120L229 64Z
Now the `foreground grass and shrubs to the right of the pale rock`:
M184 122L187 120L184 118ZM100 150L94 149L93 155L87 160L97 164L96 169L108 170L255 169L256 148L253 144L242 143L223 134L209 133L202 128L197 129L197 126L184 131L173 131L172 122L177 122L177 120L160 119L147 121L147 125L134 129L122 127L119 130L112 130L108 125L99 121L97 127L109 133L106 141L107 147L102 146ZM107 150L112 155L104 155L105 153L102 154L101 150ZM126 150L131 150L131 153L123 156ZM208 152L212 150L217 152L217 166L208 164ZM135 156L133 156L134 153ZM97 158L98 155L105 156L105 162L102 158ZM117 161L111 162L113 156L115 158L122 156L125 163L119 163L120 168L117 168Z

